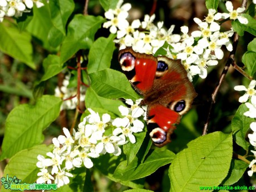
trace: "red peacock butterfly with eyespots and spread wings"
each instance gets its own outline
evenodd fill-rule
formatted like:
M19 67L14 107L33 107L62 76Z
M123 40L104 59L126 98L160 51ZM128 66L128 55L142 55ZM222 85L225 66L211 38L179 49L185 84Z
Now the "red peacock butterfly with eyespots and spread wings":
M186 70L178 60L137 53L131 47L120 50L118 59L131 86L144 96L139 105L147 105L152 142L157 147L168 144L175 124L197 95Z

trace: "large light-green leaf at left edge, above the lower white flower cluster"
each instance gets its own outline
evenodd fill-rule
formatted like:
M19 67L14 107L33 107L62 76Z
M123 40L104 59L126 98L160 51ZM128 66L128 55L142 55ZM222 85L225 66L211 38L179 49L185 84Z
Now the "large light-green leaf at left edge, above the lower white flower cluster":
M58 117L61 103L60 98L45 95L37 100L36 105L15 107L6 120L1 159L40 144L43 141L42 131Z

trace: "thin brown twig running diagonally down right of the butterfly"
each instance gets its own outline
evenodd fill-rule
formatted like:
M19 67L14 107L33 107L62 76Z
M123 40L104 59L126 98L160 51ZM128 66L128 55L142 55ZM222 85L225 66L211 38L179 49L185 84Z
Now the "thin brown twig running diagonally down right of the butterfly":
M241 7L246 7L247 1L248 0L243 0ZM210 107L209 107L208 117L207 117L207 120L206 120L206 122L204 124L204 129L203 129L203 134L202 135L206 135L207 134L208 125L209 125L209 122L210 122L211 109L213 108L213 105L215 104L216 95L217 95L217 93L219 91L219 88L220 88L221 84L224 81L224 78L225 78L225 76L226 76L226 74L227 74L227 72L229 70L230 65L232 65L232 66L235 65L234 64L235 63L235 52L237 51L238 39L239 39L239 36L235 32L234 33L234 38L233 38L233 51L230 52L228 61L227 61L226 65L225 65L225 67L224 67L224 69L223 69L223 71L221 73L219 83L218 83L218 85L216 85L216 87L215 87L215 89L213 91L213 94L211 94L211 103L210 103Z

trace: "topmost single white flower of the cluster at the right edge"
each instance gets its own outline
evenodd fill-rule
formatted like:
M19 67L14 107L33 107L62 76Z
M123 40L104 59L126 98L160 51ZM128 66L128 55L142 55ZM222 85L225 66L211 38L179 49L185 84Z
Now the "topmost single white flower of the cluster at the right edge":
M246 102L249 99L249 97L256 99L256 91L254 89L255 85L256 85L256 81L252 80L248 88L246 88L243 85L237 85L234 87L234 90L236 91L246 91L246 93L243 96L239 97L239 102Z

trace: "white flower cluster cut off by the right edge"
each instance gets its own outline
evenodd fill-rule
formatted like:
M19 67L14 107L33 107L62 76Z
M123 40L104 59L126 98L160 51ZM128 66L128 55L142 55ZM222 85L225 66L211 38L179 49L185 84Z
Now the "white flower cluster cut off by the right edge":
M248 87L243 85L235 86L234 89L237 91L246 91L245 94L239 97L239 102L244 103L248 107L249 111L244 112L244 116L250 117L255 120L256 118L256 81L252 80ZM250 100L249 100L250 99ZM249 100L249 101L248 101ZM250 129L253 130L253 134L248 134L250 144L256 149L256 121L250 124ZM249 164L251 170L248 171L248 175L252 176L256 172L256 151L253 151L255 159Z

